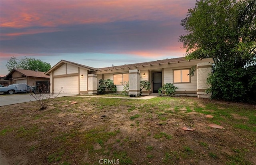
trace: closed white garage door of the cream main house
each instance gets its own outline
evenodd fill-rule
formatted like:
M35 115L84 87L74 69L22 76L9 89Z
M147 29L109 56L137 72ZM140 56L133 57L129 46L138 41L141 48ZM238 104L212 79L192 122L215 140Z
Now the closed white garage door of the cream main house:
M54 78L53 93L78 94L78 76Z

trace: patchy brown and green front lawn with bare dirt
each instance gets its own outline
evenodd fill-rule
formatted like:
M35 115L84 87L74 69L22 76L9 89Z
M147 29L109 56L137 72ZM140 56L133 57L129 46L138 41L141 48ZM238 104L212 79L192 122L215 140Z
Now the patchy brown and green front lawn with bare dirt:
M255 105L196 97L58 97L42 111L35 102L2 106L0 121L0 149L10 164L256 162Z

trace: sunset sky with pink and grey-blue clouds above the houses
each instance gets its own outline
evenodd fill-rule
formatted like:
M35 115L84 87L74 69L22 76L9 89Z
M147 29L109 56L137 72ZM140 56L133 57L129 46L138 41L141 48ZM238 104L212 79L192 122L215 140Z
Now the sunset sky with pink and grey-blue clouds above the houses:
M14 56L104 68L183 57L196 0L0 0L0 76Z

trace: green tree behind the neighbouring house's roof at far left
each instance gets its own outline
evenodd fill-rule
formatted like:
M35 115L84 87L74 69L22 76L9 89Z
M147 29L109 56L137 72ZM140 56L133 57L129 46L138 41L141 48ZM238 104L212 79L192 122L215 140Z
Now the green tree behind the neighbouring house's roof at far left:
M46 72L51 68L50 63L42 62L41 60L37 60L35 58L21 58L17 59L16 57L11 57L6 67L10 72L13 68L24 69L24 70L38 70L40 72Z

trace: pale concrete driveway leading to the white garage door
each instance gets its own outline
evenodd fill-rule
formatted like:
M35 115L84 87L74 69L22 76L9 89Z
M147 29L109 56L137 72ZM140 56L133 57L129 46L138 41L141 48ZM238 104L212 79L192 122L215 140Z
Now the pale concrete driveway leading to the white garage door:
M47 94L46 94L47 95ZM54 96L56 96L55 94ZM73 94L59 94L57 97L74 96ZM14 94L14 95L0 95L0 106L11 105L17 103L25 103L30 101L36 101L30 94Z

